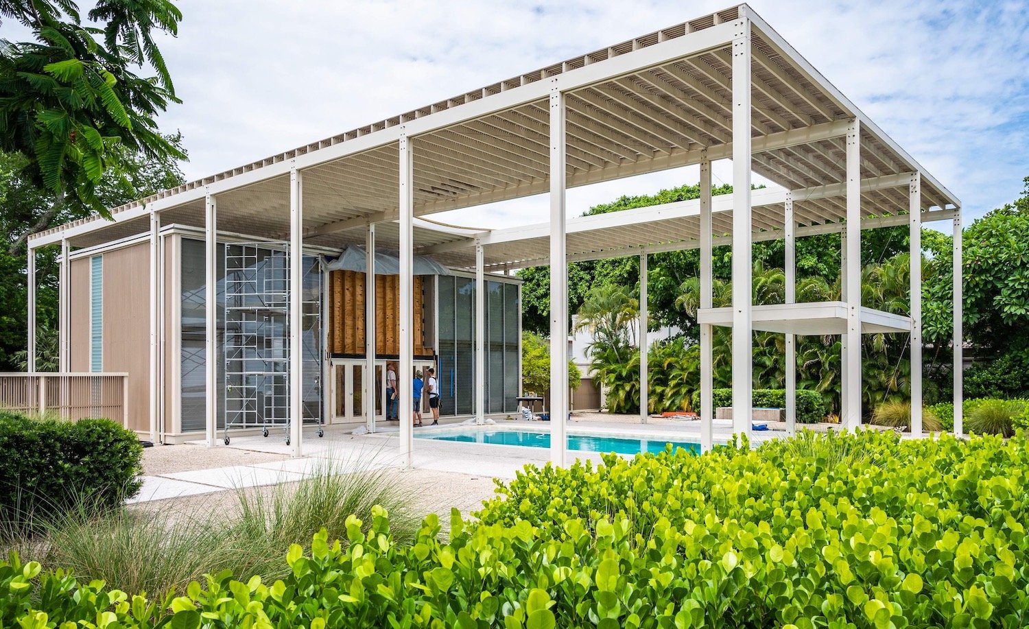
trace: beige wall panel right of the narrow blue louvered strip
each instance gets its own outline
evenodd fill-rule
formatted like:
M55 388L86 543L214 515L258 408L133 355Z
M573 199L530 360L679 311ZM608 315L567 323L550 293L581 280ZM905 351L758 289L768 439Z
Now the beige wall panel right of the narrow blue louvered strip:
M129 428L150 429L150 247L104 255L104 371L129 374Z

